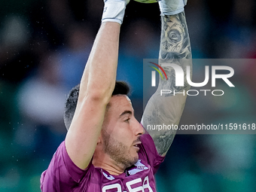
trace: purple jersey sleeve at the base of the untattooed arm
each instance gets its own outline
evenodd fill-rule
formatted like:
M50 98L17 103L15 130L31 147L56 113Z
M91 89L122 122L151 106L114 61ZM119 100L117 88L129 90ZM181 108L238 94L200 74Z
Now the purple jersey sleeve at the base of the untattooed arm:
M80 169L69 157L66 151L65 141L59 145L59 148L53 154L48 169L41 174L41 191L72 191L77 187L84 176L90 172L90 162L87 169Z

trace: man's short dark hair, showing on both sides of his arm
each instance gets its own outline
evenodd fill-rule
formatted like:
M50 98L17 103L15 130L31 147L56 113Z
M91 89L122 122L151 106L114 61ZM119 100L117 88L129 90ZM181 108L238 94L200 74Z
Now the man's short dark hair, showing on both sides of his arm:
M66 129L69 130L69 126L72 122L72 119L75 114L75 108L78 104L80 84L76 85L69 91L68 98L66 99L65 108L64 108L64 123ZM130 93L130 86L125 81L116 81L114 86L114 95L128 95Z

